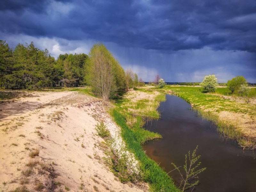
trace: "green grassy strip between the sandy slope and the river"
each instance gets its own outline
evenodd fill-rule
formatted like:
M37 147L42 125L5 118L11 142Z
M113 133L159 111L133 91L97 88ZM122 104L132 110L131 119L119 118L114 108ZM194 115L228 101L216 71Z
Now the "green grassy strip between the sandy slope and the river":
M153 94L153 91L138 89L141 92ZM110 110L116 124L121 127L121 135L127 148L140 161L141 169L145 176L143 180L148 182L151 191L179 191L174 185L170 176L152 159L150 159L142 149L142 145L150 140L160 139L161 135L143 129L143 125L152 119L160 118L156 110L161 101L165 100L165 94L157 94L153 100L132 101L127 97L118 99L115 107ZM147 110L145 110L147 109Z

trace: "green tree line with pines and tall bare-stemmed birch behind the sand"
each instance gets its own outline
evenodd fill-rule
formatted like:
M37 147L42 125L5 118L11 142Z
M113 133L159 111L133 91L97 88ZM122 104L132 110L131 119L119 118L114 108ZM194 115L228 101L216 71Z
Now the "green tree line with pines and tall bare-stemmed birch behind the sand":
M60 54L57 60L34 43L15 48L0 40L0 87L36 90L42 87L91 85L107 100L116 92L145 83L131 69L126 72L103 44L95 44L89 55Z

